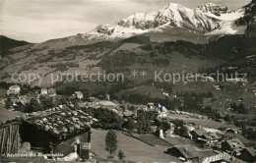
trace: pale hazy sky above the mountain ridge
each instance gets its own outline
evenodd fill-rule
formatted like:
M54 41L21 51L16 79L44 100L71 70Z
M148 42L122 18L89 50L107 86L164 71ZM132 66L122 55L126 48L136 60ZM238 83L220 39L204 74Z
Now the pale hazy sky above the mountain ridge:
M236 10L250 0L0 0L0 34L41 42L114 24L136 12L154 12L168 3L189 8L216 3Z

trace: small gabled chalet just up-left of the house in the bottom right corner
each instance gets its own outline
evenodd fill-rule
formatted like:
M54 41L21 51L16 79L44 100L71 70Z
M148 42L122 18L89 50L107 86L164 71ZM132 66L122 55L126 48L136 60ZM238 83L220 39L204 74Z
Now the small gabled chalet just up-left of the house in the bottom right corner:
M239 138L227 139L222 142L222 149L228 153L235 153L239 156L240 151L244 148L244 144Z

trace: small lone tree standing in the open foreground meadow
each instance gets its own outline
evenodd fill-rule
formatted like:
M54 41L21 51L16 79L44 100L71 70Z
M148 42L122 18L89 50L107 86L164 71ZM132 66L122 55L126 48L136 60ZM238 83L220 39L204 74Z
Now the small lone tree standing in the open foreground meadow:
M117 148L117 136L114 131L109 131L105 136L105 150L109 152L110 156L112 156L116 148Z

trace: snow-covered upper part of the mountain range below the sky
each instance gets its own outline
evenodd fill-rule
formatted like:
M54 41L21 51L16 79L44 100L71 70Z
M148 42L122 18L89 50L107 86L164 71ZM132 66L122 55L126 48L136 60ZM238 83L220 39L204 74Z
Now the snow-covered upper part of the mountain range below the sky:
M78 36L79 42L87 43L104 40L116 40L134 35L160 32L167 28L181 28L183 31L199 34L235 34L243 33L245 27L236 27L235 20L244 15L244 10L228 11L227 7L213 3L189 9L176 3L169 3L157 12L134 13L122 19L114 26L99 25L93 31ZM72 36L76 42L76 36Z

